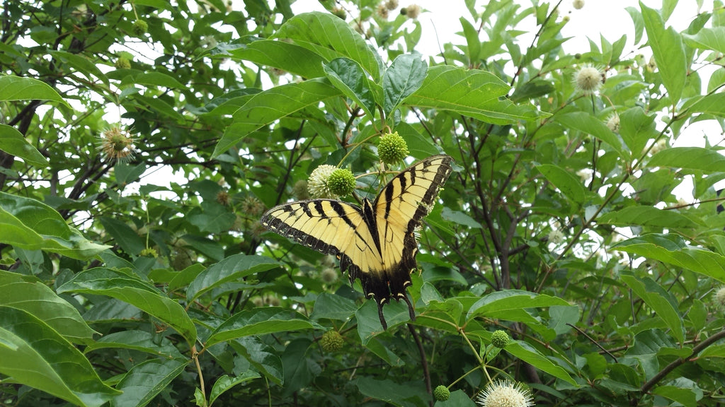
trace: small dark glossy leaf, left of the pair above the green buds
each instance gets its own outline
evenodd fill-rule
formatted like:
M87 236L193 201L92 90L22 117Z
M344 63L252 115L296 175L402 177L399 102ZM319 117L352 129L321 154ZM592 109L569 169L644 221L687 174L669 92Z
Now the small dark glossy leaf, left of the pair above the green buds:
M347 58L333 59L324 65L325 75L345 96L365 110L370 120L375 117L375 95L360 64Z

